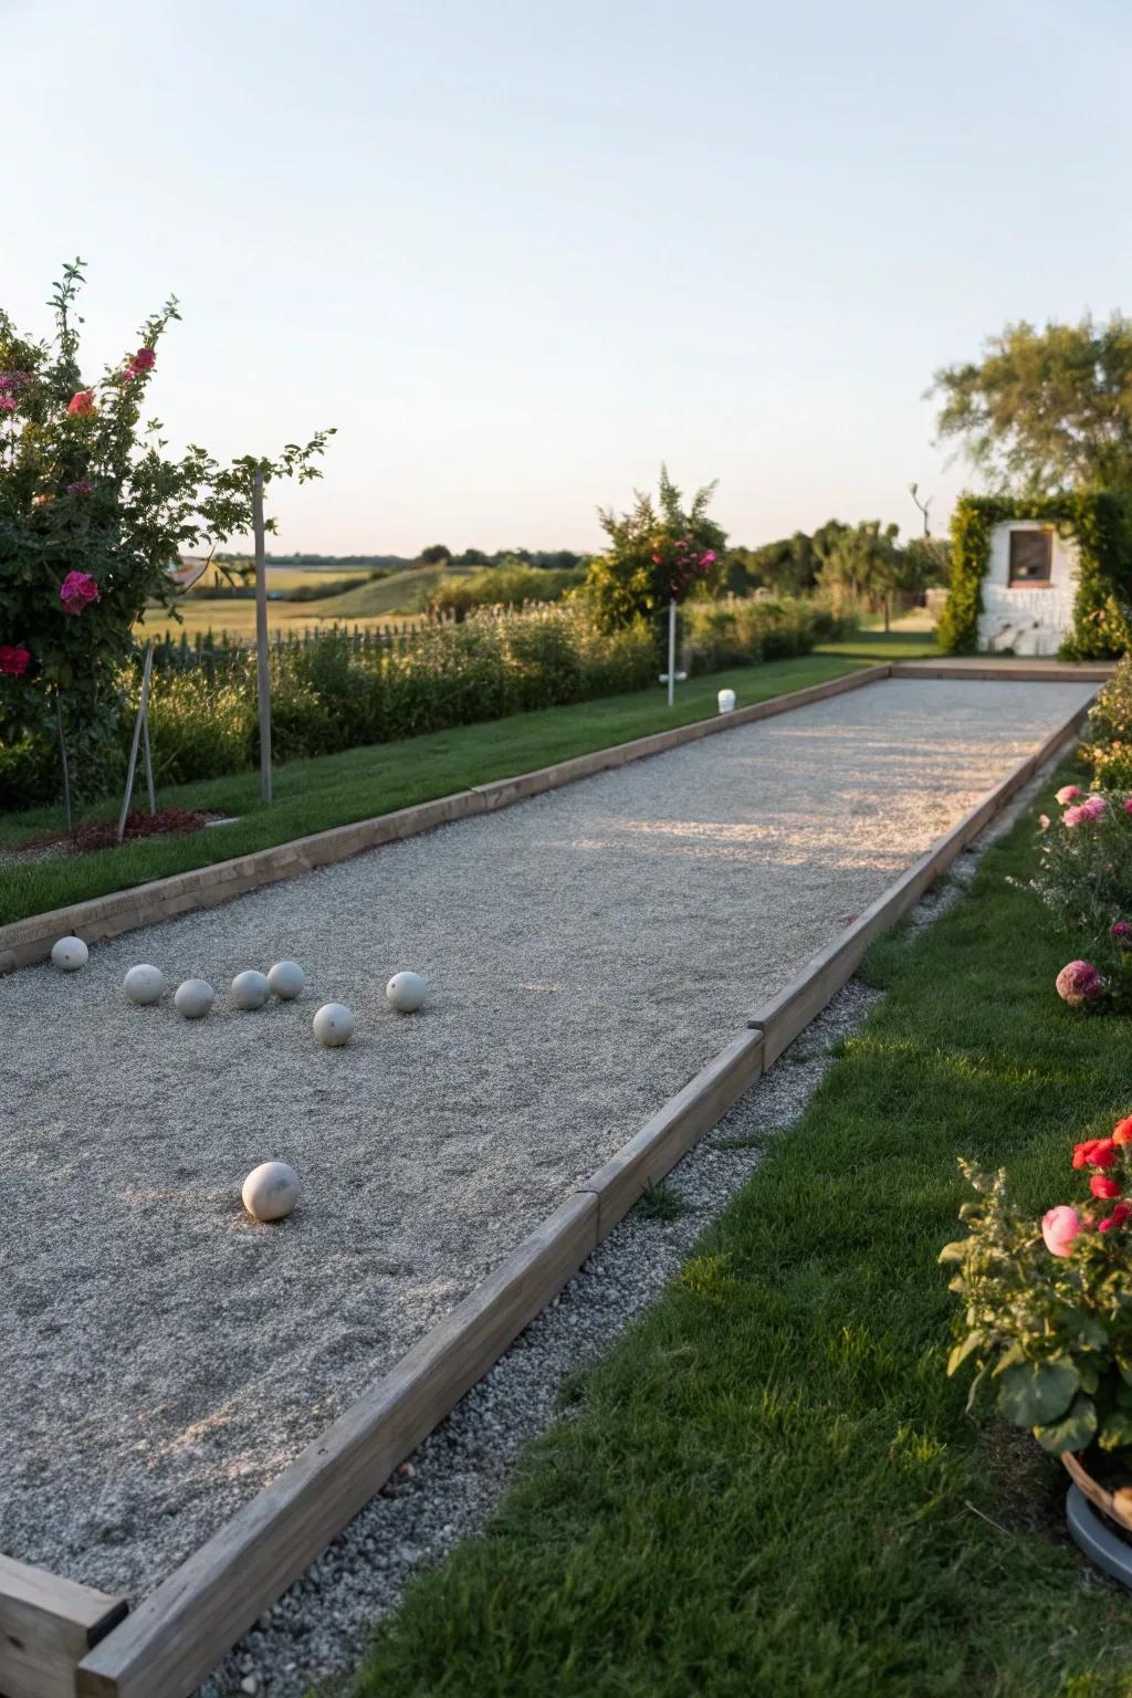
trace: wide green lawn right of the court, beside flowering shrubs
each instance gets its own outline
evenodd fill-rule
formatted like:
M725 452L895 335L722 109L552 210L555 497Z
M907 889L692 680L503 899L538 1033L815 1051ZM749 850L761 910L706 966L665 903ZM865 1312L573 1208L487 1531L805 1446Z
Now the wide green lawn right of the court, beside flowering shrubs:
M1132 1024L1059 1004L1073 942L1006 883L1034 832L872 951L886 1000L355 1698L1132 1693L1132 1600L1068 1543L1064 1472L945 1375L955 1156L1037 1214L1132 1109Z

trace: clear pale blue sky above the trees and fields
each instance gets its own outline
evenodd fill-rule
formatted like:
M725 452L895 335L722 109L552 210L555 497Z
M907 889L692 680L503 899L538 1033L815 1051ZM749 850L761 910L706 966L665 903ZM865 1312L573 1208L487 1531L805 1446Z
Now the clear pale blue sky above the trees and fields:
M932 372L1132 265L1120 0L0 0L0 302L173 290L175 443L272 452L277 548L589 548L662 458L765 542L942 525Z

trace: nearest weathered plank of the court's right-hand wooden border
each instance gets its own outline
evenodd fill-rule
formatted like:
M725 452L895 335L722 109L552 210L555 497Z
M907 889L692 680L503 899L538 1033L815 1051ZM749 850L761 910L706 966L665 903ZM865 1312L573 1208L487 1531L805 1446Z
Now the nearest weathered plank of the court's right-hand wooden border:
M187 1698L597 1243L575 1194L80 1664L81 1698Z

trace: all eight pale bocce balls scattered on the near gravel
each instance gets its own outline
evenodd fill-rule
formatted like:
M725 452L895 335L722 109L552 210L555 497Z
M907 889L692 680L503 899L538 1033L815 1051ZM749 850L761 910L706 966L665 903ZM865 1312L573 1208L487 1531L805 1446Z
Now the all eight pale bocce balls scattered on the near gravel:
M51 961L61 973L76 973L87 966L90 951L81 937L59 937L51 951ZM297 961L277 961L268 973L246 971L233 980L233 1005L236 1009L261 1009L270 997L294 1002L305 985L305 975ZM131 1002L149 1007L168 990L161 968L141 963L122 980L122 990ZM394 973L385 987L385 998L399 1014L414 1014L424 1002L426 985L419 973ZM173 993L173 1007L187 1020L200 1020L216 1002L216 992L204 978L187 978ZM345 1002L324 1002L316 1012L314 1037L326 1049L339 1049L353 1037L353 1012ZM243 1204L256 1221L282 1221L299 1202L299 1175L285 1161L263 1161L253 1168L243 1184Z

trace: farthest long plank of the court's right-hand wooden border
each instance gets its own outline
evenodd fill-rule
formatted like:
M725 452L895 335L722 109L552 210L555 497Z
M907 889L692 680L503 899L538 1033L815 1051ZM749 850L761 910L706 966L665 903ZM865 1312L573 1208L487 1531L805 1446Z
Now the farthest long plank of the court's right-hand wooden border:
M811 956L784 990L755 1009L747 1024L762 1034L764 1071L816 1019L830 997L849 983L872 939L896 925L915 907L928 885L1006 807L1015 791L1022 790L1062 747L1076 740L1078 727L1086 713L1088 703L1062 720L1035 754L1020 761L978 807L964 813L959 824L945 832L927 854L913 861L908 871L894 885L889 885L840 937Z

